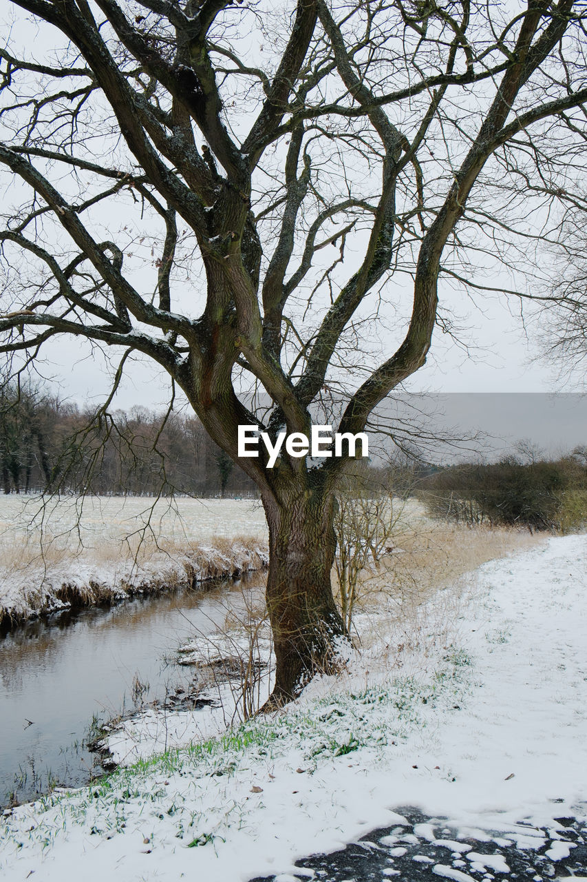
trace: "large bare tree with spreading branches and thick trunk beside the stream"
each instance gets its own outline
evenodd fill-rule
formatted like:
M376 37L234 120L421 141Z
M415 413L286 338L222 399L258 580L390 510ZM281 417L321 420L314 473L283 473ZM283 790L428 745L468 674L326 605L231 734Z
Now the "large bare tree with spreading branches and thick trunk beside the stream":
M439 278L483 288L479 255L532 235L514 207L567 198L584 153L583 2L11 9L2 351L14 370L56 335L142 353L234 460L239 424L307 434L333 389L336 428L363 430L435 323L450 330ZM346 633L331 590L346 458L240 465L269 524L279 703Z

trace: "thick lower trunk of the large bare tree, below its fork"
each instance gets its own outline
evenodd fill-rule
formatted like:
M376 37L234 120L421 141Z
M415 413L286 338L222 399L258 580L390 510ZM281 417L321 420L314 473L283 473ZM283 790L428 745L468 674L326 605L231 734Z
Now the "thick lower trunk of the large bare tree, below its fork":
M306 482L264 497L269 525L267 608L276 678L268 706L294 699L316 673L340 669L348 639L331 587L336 549L334 497Z

